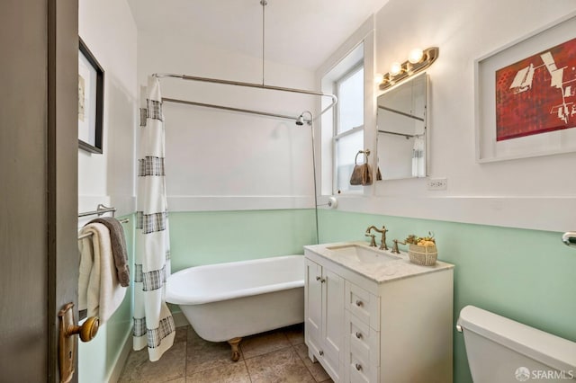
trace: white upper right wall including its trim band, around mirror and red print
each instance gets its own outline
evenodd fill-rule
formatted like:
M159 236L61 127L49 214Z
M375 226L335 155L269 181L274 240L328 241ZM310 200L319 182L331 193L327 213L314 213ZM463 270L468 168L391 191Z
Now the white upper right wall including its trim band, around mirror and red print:
M448 187L428 191L425 179L378 182L366 188L365 198L340 197L338 209L573 229L576 178L563 174L576 161L576 153L476 162L474 61L575 11L572 0L545 0L529 6L521 0L391 0L384 5L375 15L374 74L388 72L393 61L403 61L415 47L440 49L437 62L428 69L429 173L446 177Z

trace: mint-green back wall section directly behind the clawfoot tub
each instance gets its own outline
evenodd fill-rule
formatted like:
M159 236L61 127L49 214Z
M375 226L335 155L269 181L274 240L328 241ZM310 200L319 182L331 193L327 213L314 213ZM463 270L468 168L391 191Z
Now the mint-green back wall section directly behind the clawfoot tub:
M316 243L313 209L170 213L172 272L186 267L304 254Z

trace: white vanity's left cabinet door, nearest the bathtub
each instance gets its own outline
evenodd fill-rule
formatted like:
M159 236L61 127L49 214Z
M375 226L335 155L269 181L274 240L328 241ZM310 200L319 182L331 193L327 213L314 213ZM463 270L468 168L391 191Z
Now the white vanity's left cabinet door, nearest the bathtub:
M322 268L318 263L305 260L306 286L304 289L304 317L306 319L306 344L312 353L319 355L320 340L322 339Z

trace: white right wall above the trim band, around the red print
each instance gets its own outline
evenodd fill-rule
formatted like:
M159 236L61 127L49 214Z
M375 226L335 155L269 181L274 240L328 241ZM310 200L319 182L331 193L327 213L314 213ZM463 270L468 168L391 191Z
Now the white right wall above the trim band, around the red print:
M413 47L440 48L437 62L428 70L430 175L448 178L446 194L574 195L576 183L569 187L553 171L574 161L574 154L476 164L474 60L575 10L576 4L570 0L532 2L530 6L521 0L499 4L476 0L424 4L392 0L377 14L377 71L387 72L393 61L407 57ZM413 186L413 183L394 184L399 193Z

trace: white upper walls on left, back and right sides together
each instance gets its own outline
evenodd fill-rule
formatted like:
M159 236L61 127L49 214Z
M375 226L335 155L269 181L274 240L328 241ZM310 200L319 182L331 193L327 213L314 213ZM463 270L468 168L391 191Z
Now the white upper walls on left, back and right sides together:
M429 165L430 175L446 177L448 188L428 191L422 179L376 183L366 188L364 197L341 197L338 209L557 231L573 226L576 180L560 174L574 162L574 153L476 163L473 67L475 59L574 11L572 0L543 0L530 6L520 0L386 4L374 15L375 51L368 57L374 73L386 72L392 61L405 58L415 46L440 48L440 57L428 70ZM138 35L123 1L81 0L79 30L105 71L104 154L78 154L83 211L97 203L111 203L121 213L134 210L136 100L146 76L173 72L262 82L262 58L183 40L174 31ZM322 67L330 65L334 63ZM308 70L269 61L265 66L266 85L320 88L320 79ZM370 81L367 77L366 84ZM175 98L294 117L319 110L314 97L225 85L164 79L162 91ZM165 117L171 209L313 206L307 127L168 103ZM319 142L318 132L316 139Z

